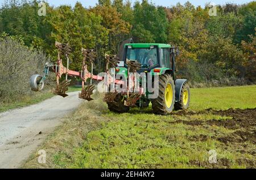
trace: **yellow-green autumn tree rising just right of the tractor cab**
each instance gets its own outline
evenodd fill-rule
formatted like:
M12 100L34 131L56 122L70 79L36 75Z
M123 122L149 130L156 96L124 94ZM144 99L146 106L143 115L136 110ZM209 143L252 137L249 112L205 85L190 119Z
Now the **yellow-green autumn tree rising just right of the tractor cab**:
M208 31L205 29L208 15L191 3L186 3L185 6L178 3L170 11L175 18L171 20L168 28L168 42L179 46L181 54L177 58L177 67L182 69L191 59L198 60L198 53L208 41Z

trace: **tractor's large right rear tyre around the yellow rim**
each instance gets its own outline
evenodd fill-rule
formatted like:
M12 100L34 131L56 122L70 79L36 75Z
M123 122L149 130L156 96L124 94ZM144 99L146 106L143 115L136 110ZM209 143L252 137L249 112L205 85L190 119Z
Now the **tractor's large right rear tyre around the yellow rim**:
M170 95L172 99L169 101L169 106L167 105L168 102L166 101L165 96L168 84L171 85L172 89L172 95ZM170 74L163 74L159 76L159 95L157 98L152 99L151 102L152 109L155 114L167 115L172 112L175 104L175 85L174 80L172 79L172 76Z

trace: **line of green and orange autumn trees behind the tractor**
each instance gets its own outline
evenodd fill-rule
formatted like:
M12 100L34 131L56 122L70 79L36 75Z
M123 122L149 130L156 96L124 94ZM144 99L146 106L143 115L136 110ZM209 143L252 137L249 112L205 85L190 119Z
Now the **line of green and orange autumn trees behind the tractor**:
M85 8L53 7L39 16L39 1L8 0L0 9L1 38L12 37L55 62L55 41L69 43L70 67L81 69L81 48L98 54L95 73L104 71L104 54L117 54L122 41L158 42L178 46L177 75L194 83L255 83L256 2L243 5L163 7L143 0L99 0ZM216 16L209 15L216 8ZM238 84L237 84L238 83Z

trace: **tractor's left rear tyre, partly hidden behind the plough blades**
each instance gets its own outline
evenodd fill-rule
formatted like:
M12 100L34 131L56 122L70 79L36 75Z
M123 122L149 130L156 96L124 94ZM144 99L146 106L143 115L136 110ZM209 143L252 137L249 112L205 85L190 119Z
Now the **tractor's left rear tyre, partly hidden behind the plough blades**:
M129 106L125 106L125 102L122 101L123 97L117 95L114 102L107 102L110 112L114 113L127 113L130 110Z

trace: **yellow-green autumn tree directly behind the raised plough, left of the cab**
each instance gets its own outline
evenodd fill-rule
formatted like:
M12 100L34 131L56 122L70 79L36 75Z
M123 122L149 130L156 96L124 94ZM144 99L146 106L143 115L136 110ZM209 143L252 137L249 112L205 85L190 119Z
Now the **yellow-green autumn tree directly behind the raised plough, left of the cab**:
M60 6L57 10L50 12L47 20L53 29L51 38L71 45L70 67L75 70L81 69L82 47L96 49L97 46L102 46L104 49L108 42L108 31L101 25L101 16L86 10L81 3L76 3L73 9L71 6ZM53 46L54 44L52 48ZM52 50L51 54L56 57L56 50Z

